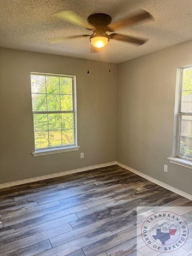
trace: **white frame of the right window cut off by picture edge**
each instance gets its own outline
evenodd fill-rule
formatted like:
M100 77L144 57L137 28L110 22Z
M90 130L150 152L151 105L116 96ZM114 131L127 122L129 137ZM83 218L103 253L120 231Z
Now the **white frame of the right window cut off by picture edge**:
M179 77L179 104L178 104L178 114L177 114L177 133L176 133L176 158L182 158L192 162L192 158L187 158L184 156L179 155L179 147L180 147L180 137L181 137L181 120L182 116L192 116L192 112L182 112L182 89L183 89L183 71L184 69L192 68L192 65L185 66L180 68L180 77ZM190 90L191 91L191 90ZM182 136L182 137L189 137L189 136ZM192 137L191 137L192 138Z

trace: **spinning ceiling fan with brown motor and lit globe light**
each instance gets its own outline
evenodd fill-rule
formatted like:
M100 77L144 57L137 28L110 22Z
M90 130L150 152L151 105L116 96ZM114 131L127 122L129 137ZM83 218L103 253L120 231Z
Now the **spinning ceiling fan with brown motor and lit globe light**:
M59 43L66 39L72 39L72 38L89 37L91 44L97 48L104 47L111 39L138 44L138 45L144 44L147 41L145 39L135 38L128 35L122 35L122 34L116 34L116 33L111 33L108 35L106 32L114 32L116 30L129 27L139 21L152 19L152 15L149 12L144 10L135 16L127 17L123 20L114 21L113 23L111 23L112 21L111 16L104 13L95 13L95 14L89 15L87 18L88 22L83 20L80 16L78 16L76 13L72 11L61 10L54 13L53 15L60 19L67 20L73 24L81 26L85 29L88 29L93 33L92 35L85 34L85 35L73 35L73 36L64 36L60 38L53 38L49 40L50 43ZM98 52L96 50L97 48L95 48L95 51L93 50L93 52Z

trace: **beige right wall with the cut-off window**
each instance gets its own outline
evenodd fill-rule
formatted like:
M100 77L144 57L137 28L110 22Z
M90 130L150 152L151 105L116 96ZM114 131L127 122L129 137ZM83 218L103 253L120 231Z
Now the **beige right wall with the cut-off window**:
M176 72L192 41L118 65L117 161L192 194L192 169L171 164ZM164 172L168 165L168 173Z

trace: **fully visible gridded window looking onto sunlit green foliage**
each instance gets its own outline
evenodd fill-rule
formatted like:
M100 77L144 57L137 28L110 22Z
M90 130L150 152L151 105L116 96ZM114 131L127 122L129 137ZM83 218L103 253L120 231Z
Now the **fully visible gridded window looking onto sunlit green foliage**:
M74 77L31 73L35 152L77 145Z

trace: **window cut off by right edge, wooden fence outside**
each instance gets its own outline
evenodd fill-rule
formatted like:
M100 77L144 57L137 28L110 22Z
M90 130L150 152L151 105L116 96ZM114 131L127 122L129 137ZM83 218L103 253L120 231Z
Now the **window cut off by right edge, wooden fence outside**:
M192 161L192 66L181 69L176 156Z

